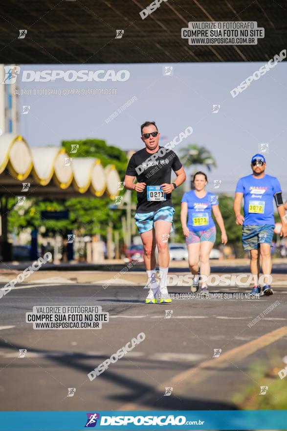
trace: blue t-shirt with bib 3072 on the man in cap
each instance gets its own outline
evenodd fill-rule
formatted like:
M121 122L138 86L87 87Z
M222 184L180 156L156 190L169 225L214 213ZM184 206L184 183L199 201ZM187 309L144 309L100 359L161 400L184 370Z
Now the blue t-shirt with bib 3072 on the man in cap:
M263 178L254 178L247 175L240 178L236 191L243 193L244 221L243 225L275 225L273 197L275 193L282 192L276 177L264 175Z

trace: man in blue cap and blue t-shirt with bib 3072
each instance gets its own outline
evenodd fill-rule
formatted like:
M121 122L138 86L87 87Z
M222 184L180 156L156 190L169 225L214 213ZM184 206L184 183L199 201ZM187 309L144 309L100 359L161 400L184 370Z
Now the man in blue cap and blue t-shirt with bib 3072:
M280 235L287 236L287 222L282 199L282 190L276 177L265 174L266 161L262 154L255 154L251 159L253 173L240 178L236 186L234 213L236 224L242 225L242 243L244 251L250 251L250 270L254 276L252 294L260 294L259 284L260 255L262 257L263 289L262 295L272 295L270 286L272 259L271 244L275 227L273 198L281 218ZM243 213L241 203L244 198Z

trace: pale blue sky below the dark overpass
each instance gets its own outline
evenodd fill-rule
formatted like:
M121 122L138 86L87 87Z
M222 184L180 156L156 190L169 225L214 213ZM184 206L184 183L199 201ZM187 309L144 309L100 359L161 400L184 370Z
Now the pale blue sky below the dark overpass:
M20 96L19 105L30 105L20 115L20 132L31 146L55 145L62 140L104 139L122 149L138 150L140 124L155 120L162 145L186 127L193 134L180 146L208 148L218 167L210 182L221 179L221 190L234 191L240 176L250 173L251 156L259 143L269 143L266 173L279 178L287 194L286 96L287 64L278 63L233 98L230 91L264 63L172 64L173 76L164 76L163 64L121 65L21 65L25 70L128 70L125 82L26 82L20 89L117 89L117 95ZM115 110L133 96L136 100L108 124ZM218 114L212 105L220 104ZM20 111L21 112L21 111ZM286 192L285 192L286 191Z

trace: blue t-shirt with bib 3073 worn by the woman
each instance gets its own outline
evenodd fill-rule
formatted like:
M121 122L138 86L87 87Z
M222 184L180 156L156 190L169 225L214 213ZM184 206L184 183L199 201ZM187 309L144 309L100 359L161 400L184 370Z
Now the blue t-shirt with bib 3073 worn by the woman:
M181 202L187 203L187 227L191 231L204 231L215 226L211 216L211 207L218 205L215 194L207 192L204 197L197 197L194 190L185 192Z

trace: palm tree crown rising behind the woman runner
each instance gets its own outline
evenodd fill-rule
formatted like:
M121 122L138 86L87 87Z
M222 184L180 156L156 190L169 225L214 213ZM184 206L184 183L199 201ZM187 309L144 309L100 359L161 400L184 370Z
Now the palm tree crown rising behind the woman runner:
M208 171L217 167L211 152L204 146L199 147L197 144L188 144L182 148L180 151L180 160L186 167L193 167L192 175L199 170L199 166L206 167Z

